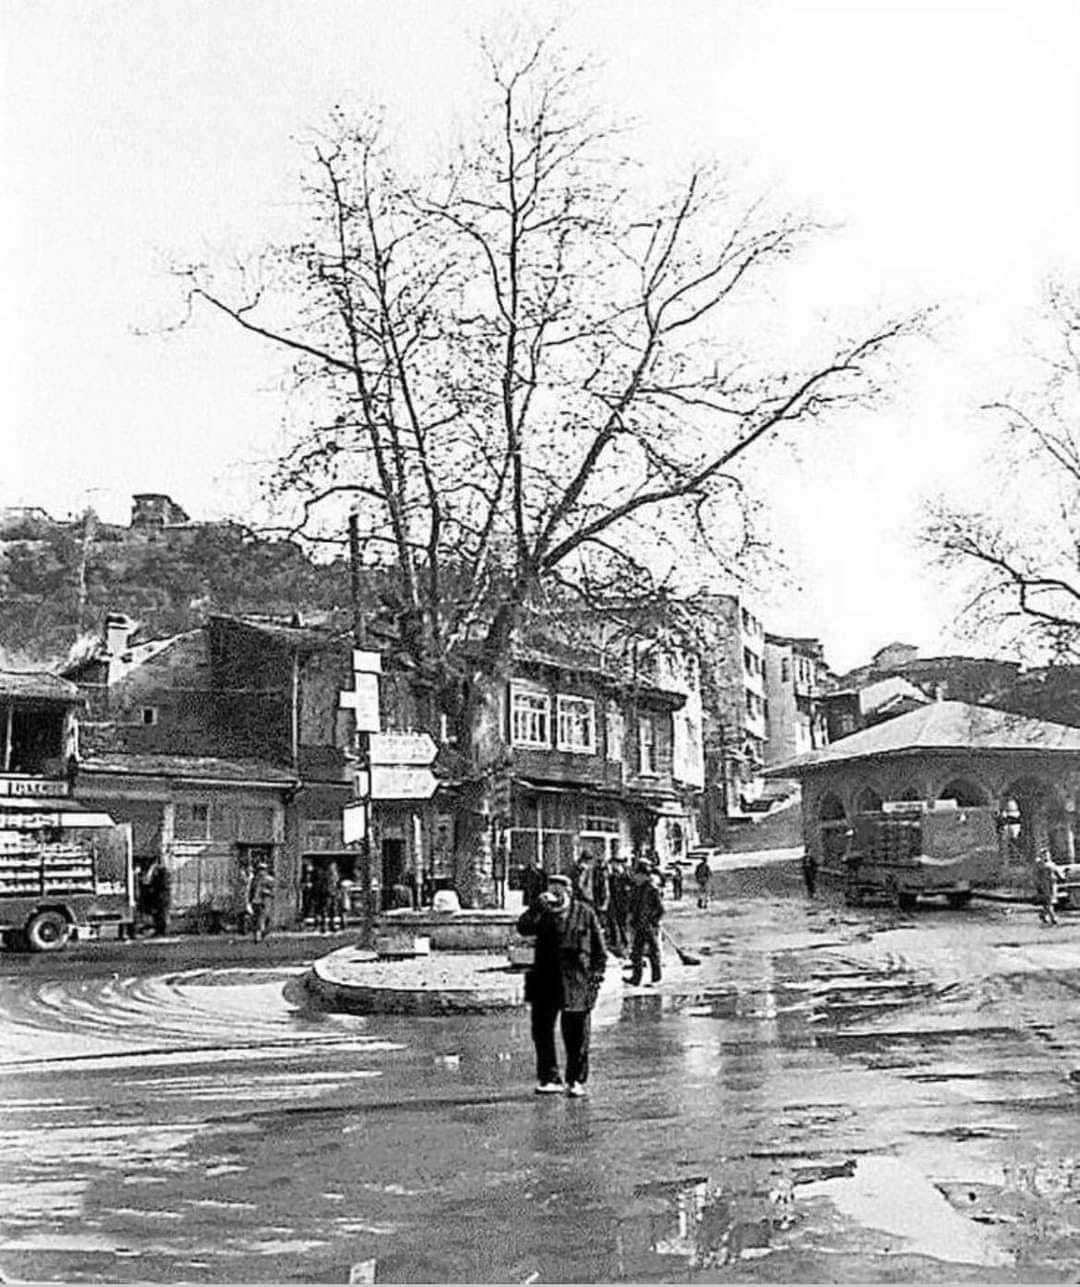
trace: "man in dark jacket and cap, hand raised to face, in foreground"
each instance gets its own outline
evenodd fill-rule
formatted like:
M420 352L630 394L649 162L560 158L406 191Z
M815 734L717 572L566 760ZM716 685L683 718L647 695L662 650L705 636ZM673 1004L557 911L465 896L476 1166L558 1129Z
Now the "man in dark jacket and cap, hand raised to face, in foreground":
M547 889L517 919L517 933L534 936L535 955L525 976L537 1055L537 1094L563 1090L555 1022L566 1049L565 1090L586 1094L592 1006L604 982L606 951L592 905L574 896L569 876L548 876Z

